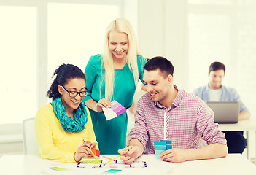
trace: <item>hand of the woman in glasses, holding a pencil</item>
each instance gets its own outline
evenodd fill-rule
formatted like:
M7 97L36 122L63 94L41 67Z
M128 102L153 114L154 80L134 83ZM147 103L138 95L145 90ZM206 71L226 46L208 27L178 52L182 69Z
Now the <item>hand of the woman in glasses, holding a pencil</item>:
M79 162L82 158L85 158L90 154L90 148L96 147L96 143L91 143L90 141L84 141L82 145L77 149L77 152L74 154L74 160Z

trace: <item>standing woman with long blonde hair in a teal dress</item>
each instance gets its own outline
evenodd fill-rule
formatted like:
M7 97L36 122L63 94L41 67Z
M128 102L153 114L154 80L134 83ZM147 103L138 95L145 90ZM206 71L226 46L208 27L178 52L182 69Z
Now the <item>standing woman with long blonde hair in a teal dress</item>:
M145 63L131 23L124 18L112 21L106 28L104 52L92 56L85 68L89 93L83 101L90 109L102 154L118 154L125 147L128 123L126 112L106 120L102 107L111 106L113 100L126 109L131 106Z

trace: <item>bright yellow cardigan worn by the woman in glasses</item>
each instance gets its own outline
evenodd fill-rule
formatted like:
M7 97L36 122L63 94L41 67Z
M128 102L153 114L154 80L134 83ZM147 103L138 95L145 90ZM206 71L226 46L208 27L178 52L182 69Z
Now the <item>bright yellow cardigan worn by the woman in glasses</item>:
M88 122L85 124L85 129L80 132L67 132L63 130L60 121L55 116L52 104L42 106L35 118L39 155L49 160L74 163L74 152L77 152L82 140L95 142L98 149L88 108L86 108L86 111L88 113Z

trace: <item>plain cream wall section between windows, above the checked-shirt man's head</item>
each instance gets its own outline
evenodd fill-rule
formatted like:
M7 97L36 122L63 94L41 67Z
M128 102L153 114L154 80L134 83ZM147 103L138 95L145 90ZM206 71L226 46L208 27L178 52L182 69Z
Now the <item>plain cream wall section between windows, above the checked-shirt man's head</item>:
M145 58L163 56L174 65L174 83L187 89L185 0L139 0L139 46Z

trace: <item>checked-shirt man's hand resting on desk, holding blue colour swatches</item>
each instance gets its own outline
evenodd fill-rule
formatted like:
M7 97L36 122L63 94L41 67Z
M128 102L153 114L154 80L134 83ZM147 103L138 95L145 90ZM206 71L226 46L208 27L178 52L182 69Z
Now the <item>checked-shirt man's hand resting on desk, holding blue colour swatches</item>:
M185 149L172 148L160 154L160 159L166 162L181 163L187 160Z

